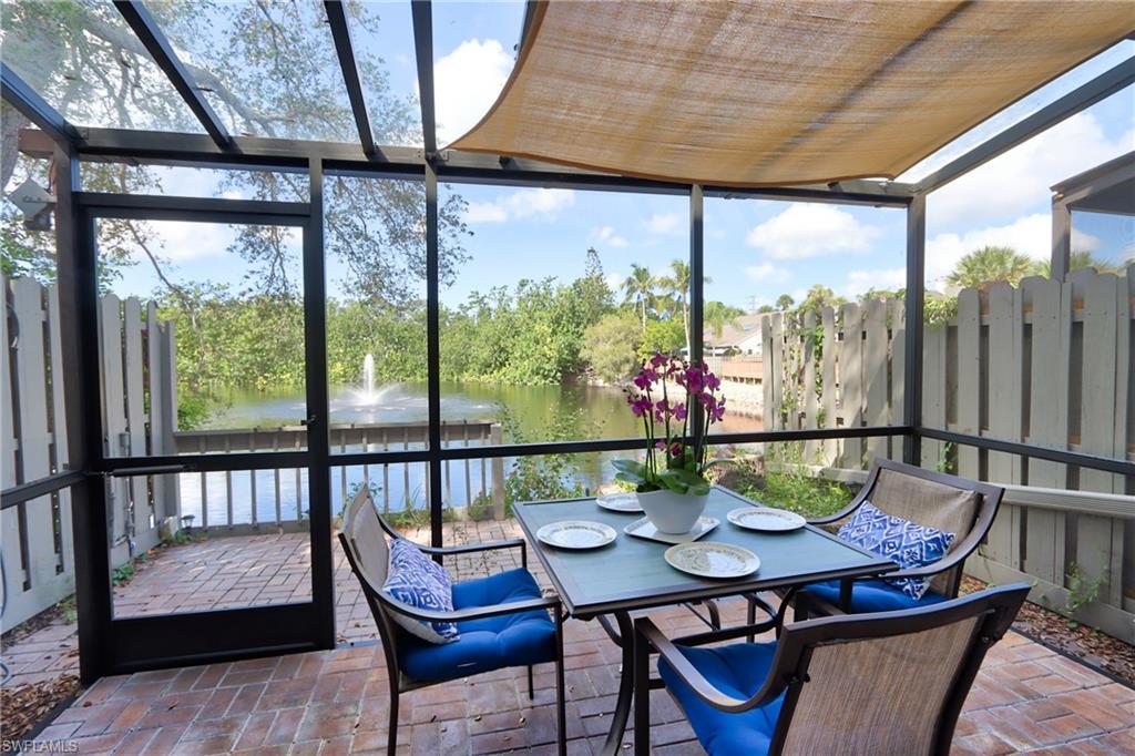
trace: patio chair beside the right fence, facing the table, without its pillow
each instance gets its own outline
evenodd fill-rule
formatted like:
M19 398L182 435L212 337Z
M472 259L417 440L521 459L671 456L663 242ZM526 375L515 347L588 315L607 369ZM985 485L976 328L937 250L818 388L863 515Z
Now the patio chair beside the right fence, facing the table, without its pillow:
M962 565L989 534L1003 495L1000 486L876 459L867 482L850 504L835 514L809 520L809 524L834 527L869 501L888 514L956 534L950 548L932 564L891 572L885 579L832 580L784 591L780 614L789 604L794 608L793 619L800 621L816 615L930 606L957 597ZM931 578L930 588L915 599L890 582L901 578ZM758 607L776 614L759 596L747 598L749 624L755 622Z

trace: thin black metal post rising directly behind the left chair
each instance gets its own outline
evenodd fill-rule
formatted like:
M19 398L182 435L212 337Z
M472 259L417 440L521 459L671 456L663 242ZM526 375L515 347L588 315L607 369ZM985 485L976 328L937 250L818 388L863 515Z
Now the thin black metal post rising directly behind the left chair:
M415 3L417 7L417 3ZM429 522L434 546L442 545L442 363L438 302L437 171L426 161L426 359L429 377Z

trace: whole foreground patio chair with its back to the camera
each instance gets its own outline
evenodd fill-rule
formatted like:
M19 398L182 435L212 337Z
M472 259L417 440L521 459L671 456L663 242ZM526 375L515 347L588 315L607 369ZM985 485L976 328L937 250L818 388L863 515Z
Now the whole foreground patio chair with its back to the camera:
M665 687L711 756L950 751L982 660L1020 610L1027 585L934 606L785 625L775 642L705 644L742 625L670 640L636 622L634 753L649 753L649 690ZM661 679L649 679L658 653Z

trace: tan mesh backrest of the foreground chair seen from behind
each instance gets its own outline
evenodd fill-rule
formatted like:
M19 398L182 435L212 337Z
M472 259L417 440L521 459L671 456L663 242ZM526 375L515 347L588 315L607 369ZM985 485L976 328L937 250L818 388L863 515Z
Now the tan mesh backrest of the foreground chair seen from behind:
M944 756L986 650L1027 594L1009 586L787 625L774 674L788 692L770 753Z

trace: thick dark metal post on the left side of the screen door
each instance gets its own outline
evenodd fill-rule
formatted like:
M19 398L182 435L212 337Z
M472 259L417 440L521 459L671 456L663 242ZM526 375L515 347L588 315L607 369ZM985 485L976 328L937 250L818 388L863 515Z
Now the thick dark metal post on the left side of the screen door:
M75 205L78 160L62 149L56 149L54 159L59 336L64 373L92 377L91 380L64 383L68 467L90 471L100 469L103 459L94 220ZM72 488L78 664L84 683L102 677L111 662L107 641L112 616L107 524L106 482L100 476L89 474Z

